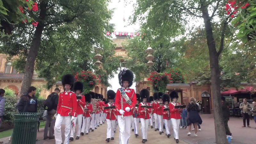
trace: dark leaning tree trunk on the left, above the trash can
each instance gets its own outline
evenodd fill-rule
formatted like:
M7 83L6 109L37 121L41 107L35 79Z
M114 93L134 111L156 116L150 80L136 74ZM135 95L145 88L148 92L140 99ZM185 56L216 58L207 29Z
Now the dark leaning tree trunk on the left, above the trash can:
M39 5L39 8L40 8L39 21L38 21L38 25L36 27L35 34L32 38L32 43L28 52L27 62L24 69L24 75L23 75L23 80L22 80L22 85L20 90L21 95L27 92L28 88L31 86L32 77L34 74L35 60L36 60L37 52L40 47L41 36L44 30L44 20L47 12L47 9L46 9L47 5L48 5L48 1L41 1Z

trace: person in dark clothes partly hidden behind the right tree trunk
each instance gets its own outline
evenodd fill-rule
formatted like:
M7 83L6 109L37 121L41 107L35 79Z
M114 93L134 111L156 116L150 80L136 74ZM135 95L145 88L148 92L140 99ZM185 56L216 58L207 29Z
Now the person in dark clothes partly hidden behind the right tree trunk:
M223 120L224 120L224 126L227 137L230 137L230 139L233 139L232 133L229 130L228 127L228 120L229 120L229 108L228 103L226 102L225 97L221 96L221 108L223 112Z

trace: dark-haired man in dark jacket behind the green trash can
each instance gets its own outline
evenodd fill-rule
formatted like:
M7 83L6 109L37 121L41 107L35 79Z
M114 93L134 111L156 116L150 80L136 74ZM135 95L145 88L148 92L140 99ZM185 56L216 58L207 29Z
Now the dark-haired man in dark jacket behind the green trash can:
M37 100L35 97L36 88L31 86L28 88L28 92L20 97L20 101L17 104L19 113L36 113L37 112Z

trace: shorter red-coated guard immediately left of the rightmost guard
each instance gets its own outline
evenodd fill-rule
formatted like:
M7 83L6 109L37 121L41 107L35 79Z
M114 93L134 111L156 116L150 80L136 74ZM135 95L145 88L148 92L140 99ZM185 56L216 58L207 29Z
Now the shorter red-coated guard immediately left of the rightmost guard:
M166 132L167 137L169 138L171 136L170 130L171 130L171 125L172 125L171 113L170 113L170 109L167 110L167 111L164 111L164 108L169 108L170 96L168 94L164 94L163 97L162 97L162 100L164 102L164 106L162 107L162 111L163 111L163 120L164 120L165 132Z

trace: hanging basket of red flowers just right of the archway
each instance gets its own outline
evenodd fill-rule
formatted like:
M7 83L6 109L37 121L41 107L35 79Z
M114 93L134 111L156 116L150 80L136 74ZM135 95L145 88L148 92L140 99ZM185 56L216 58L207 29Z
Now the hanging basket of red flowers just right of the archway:
M172 83L171 74L166 72L157 73L156 71L150 72L148 77L149 83L153 86L154 92L165 92L166 85Z

